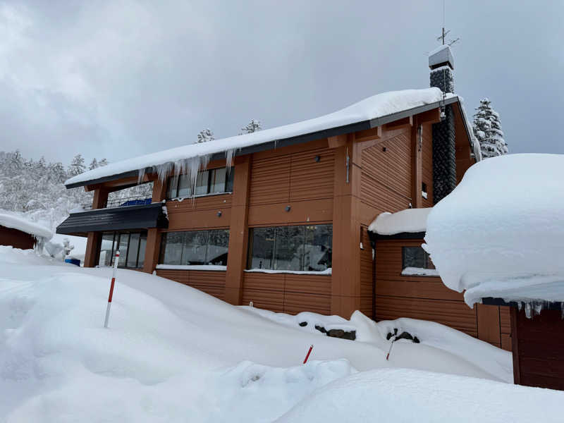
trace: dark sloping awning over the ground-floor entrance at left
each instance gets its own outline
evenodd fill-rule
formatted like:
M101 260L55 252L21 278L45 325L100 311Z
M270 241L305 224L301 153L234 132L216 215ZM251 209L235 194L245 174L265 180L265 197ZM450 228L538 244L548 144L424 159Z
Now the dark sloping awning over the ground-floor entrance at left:
M161 203L153 203L71 213L66 221L57 226L56 233L86 235L88 232L99 231L168 228L168 219L162 206Z

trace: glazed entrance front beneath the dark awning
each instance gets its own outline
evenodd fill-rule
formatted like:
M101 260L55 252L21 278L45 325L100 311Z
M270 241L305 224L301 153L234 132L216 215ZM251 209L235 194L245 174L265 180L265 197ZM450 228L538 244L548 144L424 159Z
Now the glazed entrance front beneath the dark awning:
M139 268L145 263L146 232L104 232L98 265L113 266L116 250L119 249L119 267Z

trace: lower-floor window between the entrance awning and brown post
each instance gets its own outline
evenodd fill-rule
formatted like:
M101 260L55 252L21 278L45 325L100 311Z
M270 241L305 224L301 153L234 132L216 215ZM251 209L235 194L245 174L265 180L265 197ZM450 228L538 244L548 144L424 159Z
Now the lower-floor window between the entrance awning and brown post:
M160 264L227 266L228 229L167 232L162 236Z

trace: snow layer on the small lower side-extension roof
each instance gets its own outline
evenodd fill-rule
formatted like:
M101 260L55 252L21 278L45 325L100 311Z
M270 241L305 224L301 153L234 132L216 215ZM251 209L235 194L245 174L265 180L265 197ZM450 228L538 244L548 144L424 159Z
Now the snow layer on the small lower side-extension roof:
M424 209L405 209L397 213L379 214L368 230L378 235L396 235L397 233L417 233L427 230L427 216L431 207Z

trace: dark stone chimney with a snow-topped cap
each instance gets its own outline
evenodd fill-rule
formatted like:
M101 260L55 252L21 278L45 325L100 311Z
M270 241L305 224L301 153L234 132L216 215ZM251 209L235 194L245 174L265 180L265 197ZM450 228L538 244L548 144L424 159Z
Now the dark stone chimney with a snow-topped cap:
M429 54L431 87L454 92L454 57L443 45ZM441 122L433 124L433 202L436 204L456 187L455 121L453 106L445 106Z

